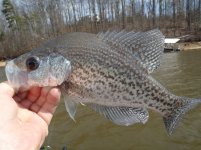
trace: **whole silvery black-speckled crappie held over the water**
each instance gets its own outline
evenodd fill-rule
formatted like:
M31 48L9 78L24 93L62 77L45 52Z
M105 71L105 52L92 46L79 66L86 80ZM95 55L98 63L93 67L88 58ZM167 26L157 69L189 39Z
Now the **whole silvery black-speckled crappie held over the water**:
M171 135L201 99L174 95L152 77L164 40L158 29L66 33L9 61L5 72L16 91L60 87L73 120L78 104L124 126L145 124L154 110Z

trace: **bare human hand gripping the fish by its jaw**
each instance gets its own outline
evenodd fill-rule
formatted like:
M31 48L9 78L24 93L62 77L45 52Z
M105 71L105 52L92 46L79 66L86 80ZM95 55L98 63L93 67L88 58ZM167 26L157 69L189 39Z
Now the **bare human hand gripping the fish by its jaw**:
M60 95L59 89L50 87L14 95L8 83L0 83L0 149L39 149Z

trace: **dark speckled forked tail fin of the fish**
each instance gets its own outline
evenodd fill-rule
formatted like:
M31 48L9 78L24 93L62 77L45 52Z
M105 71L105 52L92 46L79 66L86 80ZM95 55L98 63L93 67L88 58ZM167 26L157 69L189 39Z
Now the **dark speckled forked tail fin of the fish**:
M174 129L177 127L179 121L181 120L182 116L188 112L189 110L193 109L197 106L197 104L201 103L201 99L190 99L183 97L182 100L180 98L179 104L175 105L175 109L166 116L163 117L163 121L166 127L166 130L169 135L171 135Z

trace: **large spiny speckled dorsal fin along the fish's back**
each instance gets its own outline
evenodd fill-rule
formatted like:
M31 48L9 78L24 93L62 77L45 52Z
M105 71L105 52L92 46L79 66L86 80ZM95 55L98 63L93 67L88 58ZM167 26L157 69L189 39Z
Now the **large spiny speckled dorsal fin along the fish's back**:
M147 32L108 31L98 34L98 38L132 52L133 59L139 61L148 73L160 65L165 38L158 29Z

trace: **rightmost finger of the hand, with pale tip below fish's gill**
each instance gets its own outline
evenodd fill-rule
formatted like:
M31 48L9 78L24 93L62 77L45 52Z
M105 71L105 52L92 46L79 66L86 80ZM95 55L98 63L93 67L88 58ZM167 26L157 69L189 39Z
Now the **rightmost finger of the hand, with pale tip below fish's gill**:
M41 116L48 125L60 101L60 96L61 92L58 88L51 89L47 95L46 102L43 104L38 112L38 115Z

